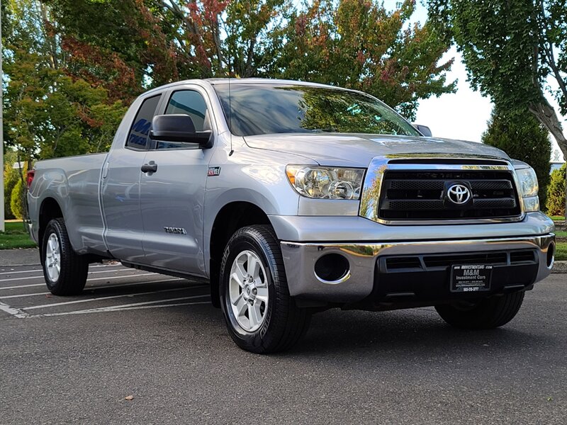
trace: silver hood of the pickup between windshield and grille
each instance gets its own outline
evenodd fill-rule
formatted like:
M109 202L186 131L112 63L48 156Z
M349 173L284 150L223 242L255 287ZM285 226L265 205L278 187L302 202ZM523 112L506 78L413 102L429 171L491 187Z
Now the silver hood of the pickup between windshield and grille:
M510 160L505 152L482 143L436 137L395 135L286 133L246 136L249 147L288 152L313 159L325 166L366 167L374 157L432 154L459 157L489 157Z

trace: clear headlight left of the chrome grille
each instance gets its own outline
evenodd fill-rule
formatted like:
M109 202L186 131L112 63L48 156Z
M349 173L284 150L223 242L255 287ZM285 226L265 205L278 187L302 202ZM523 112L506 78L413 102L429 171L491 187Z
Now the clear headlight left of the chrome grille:
M359 199L364 169L288 165L288 180L300 195L317 199Z

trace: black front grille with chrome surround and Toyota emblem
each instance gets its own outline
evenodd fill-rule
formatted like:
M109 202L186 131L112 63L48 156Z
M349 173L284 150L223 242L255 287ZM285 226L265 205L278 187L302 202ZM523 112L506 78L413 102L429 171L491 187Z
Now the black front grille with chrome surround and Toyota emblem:
M360 215L388 225L445 224L517 221L523 210L513 168L502 160L376 157Z

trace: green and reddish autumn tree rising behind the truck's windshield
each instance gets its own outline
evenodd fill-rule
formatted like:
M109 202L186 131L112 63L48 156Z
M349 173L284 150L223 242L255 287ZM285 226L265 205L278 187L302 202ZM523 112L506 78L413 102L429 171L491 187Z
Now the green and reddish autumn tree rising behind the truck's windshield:
M279 60L284 78L317 81L373 94L415 118L420 98L454 91L439 64L449 48L429 23L410 25L415 2L395 11L369 0L317 0L296 11Z

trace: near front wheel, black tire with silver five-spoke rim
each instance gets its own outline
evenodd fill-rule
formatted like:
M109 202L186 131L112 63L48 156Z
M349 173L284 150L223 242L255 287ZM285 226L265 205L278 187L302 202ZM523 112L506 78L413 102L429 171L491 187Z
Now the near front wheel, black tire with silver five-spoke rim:
M253 353L291 348L307 331L310 312L289 295L271 227L243 227L230 238L220 265L220 305L232 339Z

